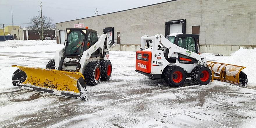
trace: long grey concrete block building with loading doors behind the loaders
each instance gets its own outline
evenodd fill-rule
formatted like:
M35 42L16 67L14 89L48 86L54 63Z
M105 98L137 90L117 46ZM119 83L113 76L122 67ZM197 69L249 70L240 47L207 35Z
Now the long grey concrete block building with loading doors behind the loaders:
M57 43L66 28L84 24L103 33L114 27L112 50L136 51L142 35L200 34L200 52L230 55L240 47L256 47L255 0L173 0L119 12L56 23Z

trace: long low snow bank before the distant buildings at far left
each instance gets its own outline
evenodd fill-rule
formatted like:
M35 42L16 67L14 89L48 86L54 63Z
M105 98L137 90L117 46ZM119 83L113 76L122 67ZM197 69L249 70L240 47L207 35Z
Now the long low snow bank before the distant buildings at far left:
M56 40L6 40L0 42L0 47L26 46L26 45L49 45L56 44Z

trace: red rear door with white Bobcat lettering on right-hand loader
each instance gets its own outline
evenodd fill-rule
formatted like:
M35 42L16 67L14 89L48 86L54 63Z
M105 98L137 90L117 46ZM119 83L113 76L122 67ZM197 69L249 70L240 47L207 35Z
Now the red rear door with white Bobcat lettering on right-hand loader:
M151 73L151 51L136 52L136 70Z

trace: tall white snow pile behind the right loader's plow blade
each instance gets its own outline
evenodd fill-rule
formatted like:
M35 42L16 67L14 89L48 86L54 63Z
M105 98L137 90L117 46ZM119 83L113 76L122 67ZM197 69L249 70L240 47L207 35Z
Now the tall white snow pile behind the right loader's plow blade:
M241 47L235 53L231 54L230 57L218 59L216 62L244 66L246 68L242 71L248 77L248 84L256 82L256 48L244 49Z

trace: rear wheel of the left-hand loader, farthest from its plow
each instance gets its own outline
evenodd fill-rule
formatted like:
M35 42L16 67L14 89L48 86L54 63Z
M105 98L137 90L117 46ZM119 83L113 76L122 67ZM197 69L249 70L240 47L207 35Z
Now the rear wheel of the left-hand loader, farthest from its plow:
M101 60L100 61L100 66L101 66L101 80L102 81L107 81L110 79L111 74L112 74L112 64L109 60ZM108 66L110 66L110 71ZM110 74L108 74L110 72Z

